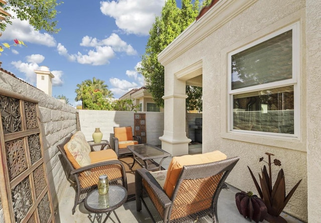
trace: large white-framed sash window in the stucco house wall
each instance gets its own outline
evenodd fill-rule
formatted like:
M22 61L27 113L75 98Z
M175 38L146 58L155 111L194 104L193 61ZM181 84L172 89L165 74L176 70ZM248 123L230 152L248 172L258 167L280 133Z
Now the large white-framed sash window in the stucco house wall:
M295 136L296 26L229 54L230 130Z

